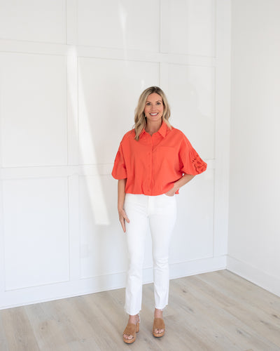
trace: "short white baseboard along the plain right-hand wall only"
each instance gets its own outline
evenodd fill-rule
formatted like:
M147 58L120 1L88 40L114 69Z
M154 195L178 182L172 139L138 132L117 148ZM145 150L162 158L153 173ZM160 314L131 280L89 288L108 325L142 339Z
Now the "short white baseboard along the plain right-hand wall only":
M227 256L227 270L238 274L240 277L247 279L249 282L260 286L261 288L280 296L280 278L272 277L266 272L262 272L248 263L237 260L230 255Z

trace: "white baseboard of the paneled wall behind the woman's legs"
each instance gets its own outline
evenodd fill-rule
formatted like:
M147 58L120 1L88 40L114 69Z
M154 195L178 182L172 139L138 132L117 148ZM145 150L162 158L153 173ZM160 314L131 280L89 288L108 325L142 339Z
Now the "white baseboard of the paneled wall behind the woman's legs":
M170 279L188 277L194 274L213 272L225 268L226 256L170 263ZM46 284L44 286L31 286L23 289L4 291L0 293L0 310L9 307L86 295L88 293L121 289L125 286L125 277L125 272L119 272L99 277L79 279L78 281L72 282L59 282L57 284ZM152 267L144 269L143 278L144 284L153 282Z

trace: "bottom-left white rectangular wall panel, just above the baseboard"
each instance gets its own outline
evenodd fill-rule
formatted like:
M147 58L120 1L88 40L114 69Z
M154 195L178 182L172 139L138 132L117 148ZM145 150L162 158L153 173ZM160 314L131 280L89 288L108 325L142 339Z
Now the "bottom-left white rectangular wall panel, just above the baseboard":
M3 204L6 290L68 281L67 179L3 180Z

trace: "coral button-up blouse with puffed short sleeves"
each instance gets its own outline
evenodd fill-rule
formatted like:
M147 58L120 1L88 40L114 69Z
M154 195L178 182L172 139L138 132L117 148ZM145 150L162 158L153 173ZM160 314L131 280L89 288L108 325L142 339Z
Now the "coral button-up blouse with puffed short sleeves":
M197 175L207 168L186 135L165 122L153 135L143 130L138 141L134 137L134 130L124 135L112 171L113 178L127 178L126 193L165 194L183 174Z

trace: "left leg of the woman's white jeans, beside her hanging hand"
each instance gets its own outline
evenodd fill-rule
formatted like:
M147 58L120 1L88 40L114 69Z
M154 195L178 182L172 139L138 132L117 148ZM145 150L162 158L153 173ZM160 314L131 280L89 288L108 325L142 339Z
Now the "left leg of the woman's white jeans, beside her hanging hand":
M135 315L141 310L143 263L148 230L148 197L142 194L125 195L125 212L130 223L125 223L129 269L125 289L125 311Z

